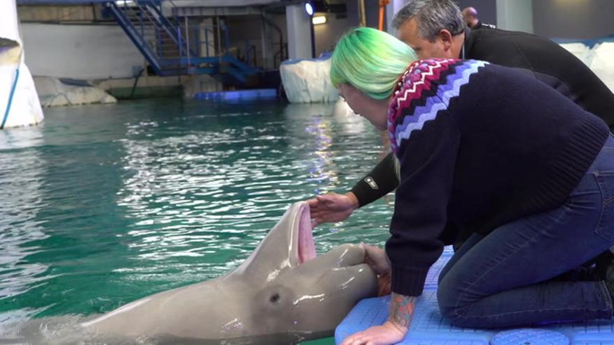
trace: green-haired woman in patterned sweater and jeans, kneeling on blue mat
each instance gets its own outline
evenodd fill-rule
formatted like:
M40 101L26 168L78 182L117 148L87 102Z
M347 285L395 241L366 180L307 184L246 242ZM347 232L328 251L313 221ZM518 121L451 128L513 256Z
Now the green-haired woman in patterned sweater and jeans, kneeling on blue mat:
M428 269L461 232L471 236L437 289L454 325L611 318L609 259L592 280L560 277L614 245L607 125L514 69L414 60L404 43L369 28L352 29L332 56L340 96L388 131L400 181L386 243L389 319L342 344L400 342Z

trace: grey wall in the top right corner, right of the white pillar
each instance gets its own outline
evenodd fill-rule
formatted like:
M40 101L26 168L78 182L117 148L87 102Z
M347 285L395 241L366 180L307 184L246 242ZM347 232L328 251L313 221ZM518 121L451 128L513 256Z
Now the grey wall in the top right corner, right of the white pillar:
M597 38L614 34L612 0L533 1L534 33L544 37Z

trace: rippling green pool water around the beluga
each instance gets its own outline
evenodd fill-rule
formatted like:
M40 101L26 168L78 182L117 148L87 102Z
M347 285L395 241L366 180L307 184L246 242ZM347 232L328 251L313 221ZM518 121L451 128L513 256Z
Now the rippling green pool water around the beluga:
M47 108L43 125L0 131L0 328L223 275L288 205L352 187L382 143L333 105ZM316 227L317 252L382 245L391 210L384 198Z

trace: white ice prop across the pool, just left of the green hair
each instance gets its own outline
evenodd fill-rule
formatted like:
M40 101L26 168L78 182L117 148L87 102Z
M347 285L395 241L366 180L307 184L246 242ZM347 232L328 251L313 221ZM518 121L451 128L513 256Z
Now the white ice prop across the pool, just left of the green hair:
M336 102L339 97L331 83L331 59L288 60L279 72L291 103Z

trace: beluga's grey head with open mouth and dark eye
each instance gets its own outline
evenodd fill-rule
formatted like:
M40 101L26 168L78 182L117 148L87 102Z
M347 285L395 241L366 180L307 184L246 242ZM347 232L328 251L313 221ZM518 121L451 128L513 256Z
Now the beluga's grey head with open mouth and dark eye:
M317 256L309 206L298 202L222 282L240 289L234 295L249 296L243 317L250 333L332 332L359 300L377 294L364 257L362 245Z

